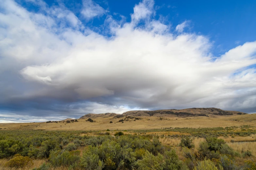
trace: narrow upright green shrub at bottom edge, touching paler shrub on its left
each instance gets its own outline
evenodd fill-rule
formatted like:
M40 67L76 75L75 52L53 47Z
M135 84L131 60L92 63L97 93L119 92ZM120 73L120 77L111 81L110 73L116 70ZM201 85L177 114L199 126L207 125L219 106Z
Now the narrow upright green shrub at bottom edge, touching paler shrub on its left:
M181 168L182 161L179 160L175 150L172 149L171 151L165 151L163 155L166 163L164 168L165 170L179 170Z

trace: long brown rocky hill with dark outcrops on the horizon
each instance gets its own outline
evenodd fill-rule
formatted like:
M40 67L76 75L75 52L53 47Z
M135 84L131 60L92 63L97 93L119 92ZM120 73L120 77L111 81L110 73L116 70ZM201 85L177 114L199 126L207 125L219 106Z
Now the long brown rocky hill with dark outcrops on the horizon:
M231 115L244 115L247 113L238 111L226 111L219 108L187 108L187 109L170 109L170 110L135 110L128 111L123 114L116 113L103 113L103 114L87 114L80 119L87 119L93 117L116 117L121 118L124 116L156 116L156 117L197 117L197 116L231 116Z

